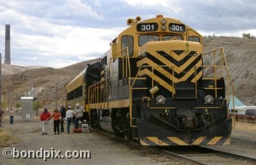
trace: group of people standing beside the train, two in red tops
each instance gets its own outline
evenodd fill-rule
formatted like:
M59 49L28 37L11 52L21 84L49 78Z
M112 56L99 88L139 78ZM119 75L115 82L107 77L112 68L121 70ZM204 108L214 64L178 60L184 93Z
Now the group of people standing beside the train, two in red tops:
M42 135L47 135L47 127L49 124L49 120L53 118L53 131L54 134L64 133L64 120L67 120L67 133L70 133L70 125L75 119L75 129L78 127L78 122L81 120L83 122L83 107L77 103L76 108L72 110L71 106L68 106L68 110L66 111L65 106L60 104L60 110L56 108L52 115L49 113L47 108L44 108L44 112L41 113L40 120L42 121Z

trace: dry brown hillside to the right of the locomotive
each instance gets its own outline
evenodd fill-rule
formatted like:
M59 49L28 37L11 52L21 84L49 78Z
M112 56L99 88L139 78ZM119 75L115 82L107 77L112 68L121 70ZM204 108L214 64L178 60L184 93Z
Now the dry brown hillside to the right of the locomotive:
M256 102L256 39L212 37L204 39L204 52L223 47L236 96L244 104Z

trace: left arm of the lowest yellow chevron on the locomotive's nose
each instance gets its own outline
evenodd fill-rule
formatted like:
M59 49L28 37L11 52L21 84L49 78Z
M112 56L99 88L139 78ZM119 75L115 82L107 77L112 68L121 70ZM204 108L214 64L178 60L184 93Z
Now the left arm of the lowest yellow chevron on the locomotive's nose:
M143 69L138 73L138 76L143 76L143 75L148 75L150 78L155 80L156 82L159 83L159 85L162 85L165 89L169 90L170 92L173 92L175 94L175 90L173 90L173 87L169 85L168 83L164 82L159 76L157 75L152 75L152 72L148 69Z

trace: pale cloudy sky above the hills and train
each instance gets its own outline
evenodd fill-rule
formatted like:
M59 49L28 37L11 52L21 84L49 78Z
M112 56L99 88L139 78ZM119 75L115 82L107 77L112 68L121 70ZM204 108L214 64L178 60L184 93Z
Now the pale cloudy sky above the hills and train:
M100 58L128 26L162 14L203 36L256 36L255 0L0 0L0 52L11 27L11 60L20 66L62 68Z

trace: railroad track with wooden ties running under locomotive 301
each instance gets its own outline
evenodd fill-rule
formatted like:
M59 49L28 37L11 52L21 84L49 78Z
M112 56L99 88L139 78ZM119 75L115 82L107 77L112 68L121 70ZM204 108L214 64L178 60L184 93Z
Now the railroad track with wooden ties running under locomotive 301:
M223 152L209 147L144 147L136 141L127 141L115 134L98 131L117 145L154 159L159 164L256 164L256 158Z

